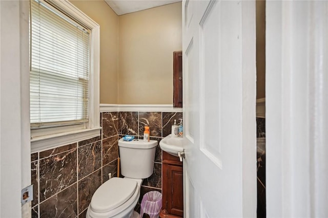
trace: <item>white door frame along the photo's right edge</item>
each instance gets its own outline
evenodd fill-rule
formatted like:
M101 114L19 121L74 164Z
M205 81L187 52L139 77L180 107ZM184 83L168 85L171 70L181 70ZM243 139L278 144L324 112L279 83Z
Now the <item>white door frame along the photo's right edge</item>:
M266 6L267 217L327 217L328 2Z

